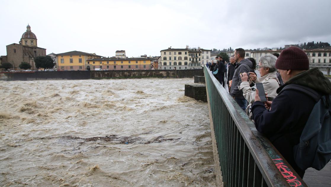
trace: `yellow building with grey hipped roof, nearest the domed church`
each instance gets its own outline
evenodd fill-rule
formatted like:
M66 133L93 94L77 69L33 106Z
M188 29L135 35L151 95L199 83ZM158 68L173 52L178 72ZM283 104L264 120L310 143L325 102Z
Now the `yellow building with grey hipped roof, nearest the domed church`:
M92 58L101 58L95 53L85 53L81 51L70 51L56 54L57 66L60 71L88 70L86 61Z

